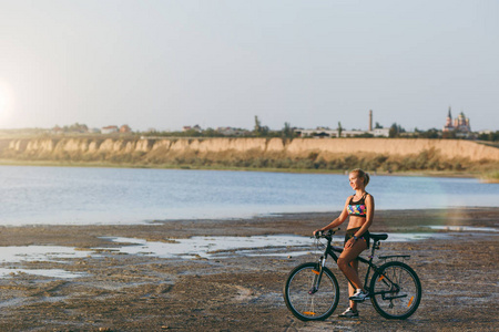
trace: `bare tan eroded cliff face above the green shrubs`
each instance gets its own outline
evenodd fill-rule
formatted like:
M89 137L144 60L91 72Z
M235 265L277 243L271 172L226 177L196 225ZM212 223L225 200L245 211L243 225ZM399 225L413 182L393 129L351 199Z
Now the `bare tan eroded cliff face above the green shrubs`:
M166 163L180 157L323 158L339 155L409 156L432 152L441 158L499 160L499 148L460 139L395 138L34 138L0 142L0 157L30 160L128 160Z

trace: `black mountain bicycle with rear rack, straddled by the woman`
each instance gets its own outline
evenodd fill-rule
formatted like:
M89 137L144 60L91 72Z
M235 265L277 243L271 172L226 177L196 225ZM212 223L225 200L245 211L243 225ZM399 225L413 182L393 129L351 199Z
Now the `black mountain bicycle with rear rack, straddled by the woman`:
M306 262L294 268L284 284L283 293L289 311L302 321L320 321L327 319L336 310L339 302L339 288L335 274L326 264L328 256L338 261L336 252L343 248L332 246L333 235L338 231L329 230L326 234L317 232L327 240L324 253L317 262ZM373 262L375 250L379 249L380 241L388 238L387 234L370 234L374 240L369 259L357 259L368 266L364 279L364 289L369 293L370 302L376 311L386 319L405 320L419 307L421 301L421 283L416 272L404 261L409 255L379 256L385 263L377 266ZM373 270L370 282L367 283Z

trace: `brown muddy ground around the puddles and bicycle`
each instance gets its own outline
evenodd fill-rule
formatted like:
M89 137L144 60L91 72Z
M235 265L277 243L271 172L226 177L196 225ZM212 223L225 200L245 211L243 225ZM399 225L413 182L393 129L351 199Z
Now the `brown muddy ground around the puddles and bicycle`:
M379 251L411 255L408 263L421 280L421 304L405 321L381 318L370 302L359 305L360 318L338 319L337 314L347 308L346 281L333 262L328 266L342 288L337 311L323 322L294 318L286 309L282 288L293 267L316 259L314 253L293 253L310 250L312 239L306 248L228 250L214 252L208 259L185 259L159 258L147 252L125 255L118 248L130 245L105 238L172 242L193 236L309 236L336 215L1 228L0 243L4 247L64 246L85 255L57 260L2 260L0 268L12 269L12 273L0 279L0 331L499 330L499 208L377 212L374 232L431 235L425 240L386 242ZM495 231L431 230L428 226L488 227ZM271 252L274 255L267 255ZM14 269L61 269L81 274L40 277Z

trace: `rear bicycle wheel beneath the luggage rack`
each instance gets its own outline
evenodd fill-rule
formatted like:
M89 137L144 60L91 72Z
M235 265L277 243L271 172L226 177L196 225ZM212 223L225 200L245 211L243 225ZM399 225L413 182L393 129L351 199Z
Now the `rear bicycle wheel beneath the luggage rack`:
M376 311L387 319L405 320L419 307L421 283L406 263L390 261L383 264L370 280L370 301Z

